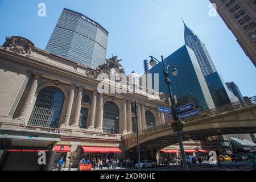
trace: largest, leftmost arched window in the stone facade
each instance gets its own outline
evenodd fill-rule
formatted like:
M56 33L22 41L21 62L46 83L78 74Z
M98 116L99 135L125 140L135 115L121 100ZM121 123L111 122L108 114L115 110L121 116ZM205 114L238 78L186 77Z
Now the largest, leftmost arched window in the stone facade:
M28 125L55 127L59 122L63 102L64 93L59 88L48 86L42 89L36 98Z

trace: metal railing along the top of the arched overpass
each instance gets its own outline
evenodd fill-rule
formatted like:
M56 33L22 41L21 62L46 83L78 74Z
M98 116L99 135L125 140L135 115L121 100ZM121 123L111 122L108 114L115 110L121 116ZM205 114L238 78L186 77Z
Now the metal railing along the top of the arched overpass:
M220 107L216 107L214 109L210 109L207 111L201 111L199 115L195 115L189 118L185 118L182 119L183 121L185 121L185 123L191 122L191 121L195 121L196 119L201 119L201 118L207 118L207 117L213 117L215 115L221 114L221 113L225 113L225 112L229 112L232 110L239 110L245 107L249 107L251 105L255 105L256 104L256 96L254 97L250 97L250 98L246 98L245 100L240 100L237 102L233 102L227 105L223 105ZM158 125L155 127L150 127L148 129L145 130L141 130L139 131L139 136L140 139L144 138L142 137L142 135L148 134L148 133L152 133L154 131L160 131L163 129L167 129L171 127L171 123L164 123L162 125ZM137 137L136 133L130 133L127 135L123 135L123 139L127 139L127 138L135 138Z

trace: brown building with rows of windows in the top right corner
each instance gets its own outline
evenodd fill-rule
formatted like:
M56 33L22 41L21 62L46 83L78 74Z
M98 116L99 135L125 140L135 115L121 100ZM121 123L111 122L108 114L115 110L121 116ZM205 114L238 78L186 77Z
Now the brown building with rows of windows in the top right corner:
M256 1L210 0L238 44L256 67Z

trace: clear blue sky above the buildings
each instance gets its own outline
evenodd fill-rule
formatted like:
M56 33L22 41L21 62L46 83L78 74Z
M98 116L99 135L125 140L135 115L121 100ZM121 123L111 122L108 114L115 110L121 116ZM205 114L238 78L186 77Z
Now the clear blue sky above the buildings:
M46 17L38 4L46 4ZM255 67L219 15L210 17L208 0L0 0L0 44L23 36L44 49L63 8L79 11L109 31L107 57L122 58L126 73L143 72L148 55L167 57L184 45L183 17L208 48L217 71L234 81L243 96L255 96Z

